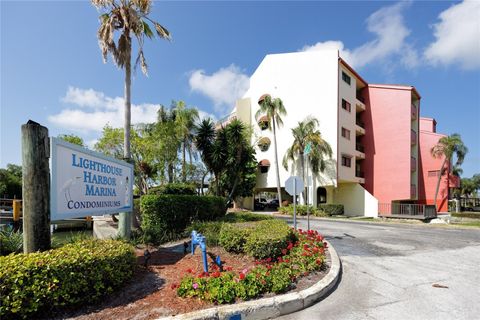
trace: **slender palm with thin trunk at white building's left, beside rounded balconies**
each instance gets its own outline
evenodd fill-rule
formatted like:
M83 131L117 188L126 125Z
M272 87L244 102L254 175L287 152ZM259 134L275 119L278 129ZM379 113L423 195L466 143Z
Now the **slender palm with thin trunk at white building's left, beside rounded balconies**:
M277 127L283 125L282 116L287 115L283 101L280 98L272 99L269 94L264 94L258 99L260 109L255 114L258 121L262 116L266 116L268 120L268 128L273 132L273 147L275 152L275 170L277 173L277 193L278 203L282 206L282 192L280 187L280 168L278 167L278 151L277 151Z

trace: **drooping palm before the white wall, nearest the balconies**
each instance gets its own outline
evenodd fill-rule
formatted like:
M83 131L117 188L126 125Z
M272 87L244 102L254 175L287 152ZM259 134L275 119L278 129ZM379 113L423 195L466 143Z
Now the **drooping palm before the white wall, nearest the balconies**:
M305 146L311 145L309 156L310 167L312 173L317 175L323 172L326 167L325 156L332 157L332 148L330 144L323 140L319 130L317 130L319 123L316 118L307 117L305 120L298 123L298 126L292 129L293 143L287 149L283 157L283 167L288 170L288 162L295 162L299 158L302 168L302 177L305 180ZM308 177L307 177L308 178Z

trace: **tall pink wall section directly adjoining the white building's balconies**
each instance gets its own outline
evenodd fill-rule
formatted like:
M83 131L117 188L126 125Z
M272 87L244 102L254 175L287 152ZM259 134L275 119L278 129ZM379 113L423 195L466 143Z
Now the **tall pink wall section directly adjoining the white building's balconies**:
M365 188L379 203L411 199L412 88L368 85L364 98Z

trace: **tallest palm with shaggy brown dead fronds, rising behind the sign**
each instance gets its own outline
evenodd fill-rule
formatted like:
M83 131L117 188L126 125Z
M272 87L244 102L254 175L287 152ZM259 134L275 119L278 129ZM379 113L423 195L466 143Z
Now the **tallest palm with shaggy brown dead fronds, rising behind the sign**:
M100 28L97 37L102 50L103 61L107 61L110 53L115 64L125 69L125 123L124 123L124 158L130 160L130 122L131 122L131 56L132 35L138 40L138 55L135 68L140 64L142 72L147 74L147 63L143 54L145 36L153 38L154 33L149 23L152 23L158 36L170 40L170 32L158 22L148 17L151 0L91 0L101 12ZM115 43L115 31L120 33Z

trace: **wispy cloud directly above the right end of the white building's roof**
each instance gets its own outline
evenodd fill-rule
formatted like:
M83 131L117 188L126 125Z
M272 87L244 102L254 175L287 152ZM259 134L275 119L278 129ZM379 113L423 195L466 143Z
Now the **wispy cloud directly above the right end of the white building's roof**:
M403 10L410 2L398 2L372 13L366 20L367 30L375 34L375 39L349 50L342 41L318 42L305 46L302 51L337 49L340 56L353 67L361 68L370 62L398 58L407 68L418 65L416 50L406 42L410 30L405 26Z

